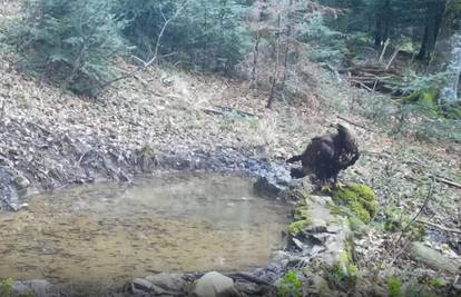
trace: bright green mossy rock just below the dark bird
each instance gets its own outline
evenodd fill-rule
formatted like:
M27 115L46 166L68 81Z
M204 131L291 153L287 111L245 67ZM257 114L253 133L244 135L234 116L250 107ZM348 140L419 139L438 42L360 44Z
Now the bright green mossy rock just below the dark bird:
M352 212L367 224L377 212L377 199L366 185L351 184L343 189L333 191L333 200L339 205L347 206Z

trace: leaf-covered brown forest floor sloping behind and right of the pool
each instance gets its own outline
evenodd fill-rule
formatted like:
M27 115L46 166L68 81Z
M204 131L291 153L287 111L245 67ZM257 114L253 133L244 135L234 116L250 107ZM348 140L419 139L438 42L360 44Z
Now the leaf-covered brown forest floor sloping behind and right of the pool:
M0 16L8 17L8 9ZM383 224L392 207L410 217L421 212L425 245L461 259L461 145L394 132L400 123L390 98L351 88L322 68L312 71L310 95L267 109L268 95L248 82L167 67L140 72L98 100L80 98L17 71L11 57L1 56L0 195L95 178L129 180L147 155L217 154L232 162L238 152L285 166L312 137L342 122L354 131L362 156L341 179L370 185L381 209L359 240L359 268L384 278L443 278L408 257L400 234L384 231ZM447 273L445 281L453 275Z

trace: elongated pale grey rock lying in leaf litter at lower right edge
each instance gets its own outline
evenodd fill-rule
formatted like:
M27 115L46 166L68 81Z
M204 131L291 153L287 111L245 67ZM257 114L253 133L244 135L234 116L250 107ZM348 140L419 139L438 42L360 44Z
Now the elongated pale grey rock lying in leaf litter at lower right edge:
M460 261L450 259L450 257L429 248L424 242L412 242L410 257L415 261L421 261L432 269L442 270L450 274L458 274L461 266Z

